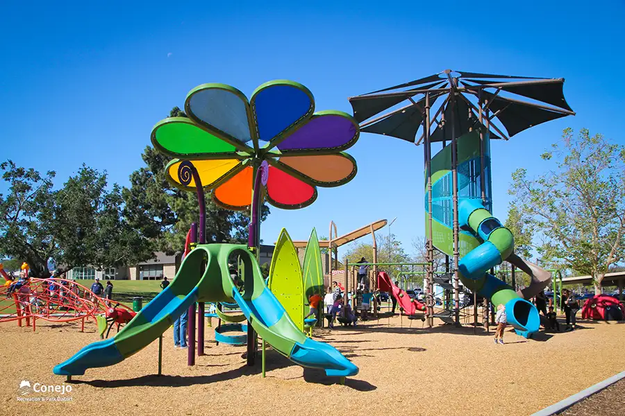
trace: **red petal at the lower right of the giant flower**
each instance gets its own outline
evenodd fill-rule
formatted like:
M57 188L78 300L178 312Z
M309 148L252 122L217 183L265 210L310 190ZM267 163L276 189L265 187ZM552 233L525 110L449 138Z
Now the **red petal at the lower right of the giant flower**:
M276 166L269 166L267 200L274 207L299 209L308 207L317 199L317 189Z

